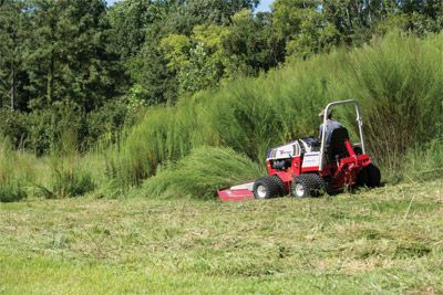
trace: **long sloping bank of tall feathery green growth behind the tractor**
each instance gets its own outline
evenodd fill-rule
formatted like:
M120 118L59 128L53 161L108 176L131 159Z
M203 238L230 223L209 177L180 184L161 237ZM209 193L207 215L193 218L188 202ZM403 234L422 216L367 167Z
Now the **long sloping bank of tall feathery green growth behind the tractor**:
M264 164L270 146L317 136L317 114L328 102L350 98L362 105L371 156L395 172L408 149L435 138L441 126L442 44L443 34L393 33L153 107L110 154L107 176L122 187L138 186L200 146L231 147ZM354 114L340 110L337 118L356 133Z

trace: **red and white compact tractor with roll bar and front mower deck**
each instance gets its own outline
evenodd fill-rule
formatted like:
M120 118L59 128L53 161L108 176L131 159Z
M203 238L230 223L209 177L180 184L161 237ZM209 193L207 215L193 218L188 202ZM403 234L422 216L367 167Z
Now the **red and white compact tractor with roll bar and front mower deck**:
M332 107L342 105L353 105L356 108L360 143L352 145L348 130L341 127L332 131L327 145L327 115ZM378 187L381 175L365 152L363 122L358 102L330 103L323 114L321 140L307 137L270 149L266 160L268 176L254 182L219 190L220 199L269 199L289 193L305 198L358 186Z

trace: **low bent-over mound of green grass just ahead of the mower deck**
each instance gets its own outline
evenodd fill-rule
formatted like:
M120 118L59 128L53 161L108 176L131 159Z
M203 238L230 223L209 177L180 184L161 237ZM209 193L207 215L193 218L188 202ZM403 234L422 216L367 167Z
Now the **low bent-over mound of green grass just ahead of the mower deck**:
M208 199L219 188L254 180L262 167L230 148L200 147L143 185L148 197Z

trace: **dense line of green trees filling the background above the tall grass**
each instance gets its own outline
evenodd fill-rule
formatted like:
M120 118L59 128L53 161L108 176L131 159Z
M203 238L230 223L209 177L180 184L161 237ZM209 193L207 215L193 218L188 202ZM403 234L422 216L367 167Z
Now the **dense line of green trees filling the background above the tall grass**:
M393 28L443 28L439 0L276 0L271 12L254 13L258 2L0 1L0 107L16 109L1 110L0 133L43 155L69 128L86 150L115 141L134 106L175 104ZM66 112L73 125L59 119Z

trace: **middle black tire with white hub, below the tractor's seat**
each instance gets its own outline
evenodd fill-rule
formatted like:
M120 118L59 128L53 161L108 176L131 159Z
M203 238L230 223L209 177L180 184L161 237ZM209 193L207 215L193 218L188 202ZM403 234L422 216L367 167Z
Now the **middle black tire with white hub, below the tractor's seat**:
M293 178L292 196L296 198L318 197L326 191L326 182L315 173L300 175Z

